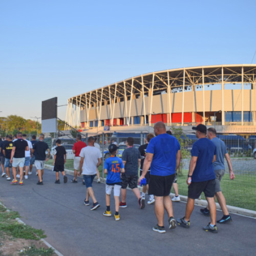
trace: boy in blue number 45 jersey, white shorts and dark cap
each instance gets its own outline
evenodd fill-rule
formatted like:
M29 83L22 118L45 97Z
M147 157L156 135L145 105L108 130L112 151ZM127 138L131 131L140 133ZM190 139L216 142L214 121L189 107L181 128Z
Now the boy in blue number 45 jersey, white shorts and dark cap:
M110 158L107 158L104 163L104 174L106 176L106 210L103 212L104 216L111 217L110 210L110 195L111 190L114 188L114 198L115 198L115 220L120 220L119 215L119 196L120 189L122 185L121 173L124 173L124 166L122 159L116 156L117 145L111 144L109 146L109 152L111 154Z

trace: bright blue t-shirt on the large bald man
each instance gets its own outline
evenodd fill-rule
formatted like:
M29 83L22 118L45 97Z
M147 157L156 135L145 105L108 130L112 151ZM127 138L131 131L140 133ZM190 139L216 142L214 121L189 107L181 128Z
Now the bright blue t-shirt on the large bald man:
M146 148L146 153L154 154L150 174L157 176L175 174L176 154L179 150L179 141L167 133L152 138Z

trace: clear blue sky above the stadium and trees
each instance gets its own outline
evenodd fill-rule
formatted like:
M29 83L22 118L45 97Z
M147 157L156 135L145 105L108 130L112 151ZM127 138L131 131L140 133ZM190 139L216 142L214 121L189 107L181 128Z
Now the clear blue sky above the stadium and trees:
M0 0L0 117L41 117L41 101L65 105L154 71L255 64L255 8L247 0ZM66 110L58 107L60 119Z

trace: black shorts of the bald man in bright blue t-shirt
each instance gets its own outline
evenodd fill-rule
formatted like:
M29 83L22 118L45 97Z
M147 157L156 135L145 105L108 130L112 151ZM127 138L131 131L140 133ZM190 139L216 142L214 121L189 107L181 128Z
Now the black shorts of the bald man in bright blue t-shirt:
M150 184L148 187L148 195L157 197L166 197L170 194L170 189L174 181L175 174L168 176L150 175Z

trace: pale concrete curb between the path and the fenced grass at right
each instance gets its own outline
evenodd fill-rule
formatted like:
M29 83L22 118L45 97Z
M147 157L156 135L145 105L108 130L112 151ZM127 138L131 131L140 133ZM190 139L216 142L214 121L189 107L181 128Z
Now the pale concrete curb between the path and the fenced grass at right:
M46 164L45 166L50 167L50 169L53 167L52 165L48 165ZM73 170L69 170L69 169L65 169L65 172L69 175L74 175L74 171ZM81 177L80 177L81 178ZM101 182L105 183L106 179L105 178L100 178ZM138 188L140 189L140 191L142 191L142 187L138 186ZM169 194L171 197L175 196L174 193L170 193ZM181 196L180 195L180 199L183 202L187 202L187 196ZM195 204L199 205L199 206L207 206L207 201L206 200L195 200ZM216 207L217 209L221 209L219 203L216 203ZM249 209L244 209L244 208L240 208L240 207L236 207L236 206L231 206L231 205L227 205L227 209L231 214L240 214L246 217L251 217L256 219L256 211L255 210L249 210Z

